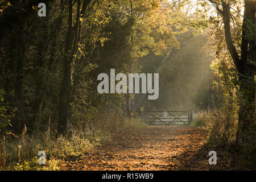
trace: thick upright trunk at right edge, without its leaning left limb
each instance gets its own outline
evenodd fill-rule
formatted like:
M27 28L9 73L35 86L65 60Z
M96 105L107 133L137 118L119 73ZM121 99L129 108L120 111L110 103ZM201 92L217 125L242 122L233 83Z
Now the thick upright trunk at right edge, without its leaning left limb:
M251 156L246 146L255 145L255 36L249 36L249 31L255 27L255 1L245 1L245 11L242 25L242 44L240 69L238 70L239 90L239 119L237 143L238 147ZM254 144L253 144L254 143ZM253 144L253 145L251 145ZM249 150L248 150L249 149Z

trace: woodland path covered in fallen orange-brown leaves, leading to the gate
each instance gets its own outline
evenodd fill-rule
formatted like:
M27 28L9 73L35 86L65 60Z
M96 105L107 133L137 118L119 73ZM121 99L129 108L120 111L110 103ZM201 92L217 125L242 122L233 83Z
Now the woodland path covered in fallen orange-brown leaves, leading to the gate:
M204 130L193 126L148 126L114 135L61 170L237 170L236 160L217 152L217 164L209 165Z

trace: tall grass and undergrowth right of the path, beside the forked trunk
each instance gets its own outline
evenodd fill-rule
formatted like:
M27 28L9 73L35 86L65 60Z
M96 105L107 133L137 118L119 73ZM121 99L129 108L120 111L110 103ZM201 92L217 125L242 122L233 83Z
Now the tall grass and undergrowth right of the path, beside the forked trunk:
M250 160L240 152L240 148L237 145L238 113L236 110L212 110L208 113L202 111L192 122L192 126L199 126L208 131L209 146L220 149L225 158L229 158L234 154L236 160L240 160L241 164L255 169L256 144L247 143L246 150L254 152L251 152Z

